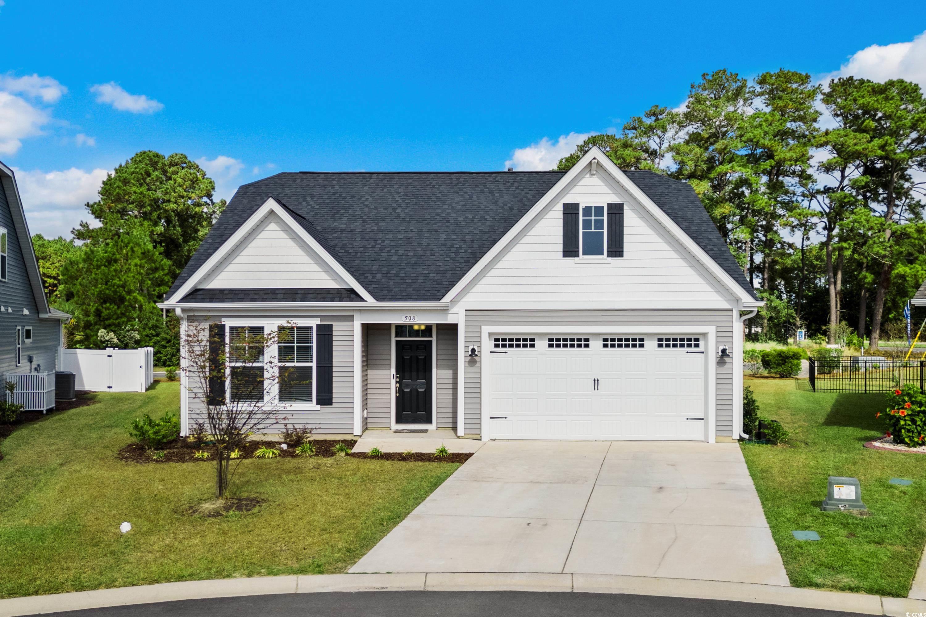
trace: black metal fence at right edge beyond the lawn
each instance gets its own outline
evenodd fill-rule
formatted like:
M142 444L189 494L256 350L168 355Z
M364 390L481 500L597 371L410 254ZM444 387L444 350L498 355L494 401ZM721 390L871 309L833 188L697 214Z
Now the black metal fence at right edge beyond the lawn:
M888 360L874 356L810 358L807 379L815 392L878 393L916 384L923 389L926 361Z

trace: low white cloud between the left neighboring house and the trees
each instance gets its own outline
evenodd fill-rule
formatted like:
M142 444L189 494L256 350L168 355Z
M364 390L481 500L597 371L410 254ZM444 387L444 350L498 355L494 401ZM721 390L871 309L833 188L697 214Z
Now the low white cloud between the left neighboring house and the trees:
M84 171L23 171L13 167L29 230L47 237L70 237L81 219L90 219L83 205L97 198L106 169Z

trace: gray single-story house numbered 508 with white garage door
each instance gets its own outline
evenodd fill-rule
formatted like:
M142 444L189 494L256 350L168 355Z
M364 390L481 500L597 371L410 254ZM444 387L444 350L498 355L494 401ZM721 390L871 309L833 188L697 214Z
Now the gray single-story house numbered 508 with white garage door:
M761 305L688 184L597 148L568 172L246 184L162 304L232 342L295 324L269 355L311 385L266 396L319 433L707 442L741 437Z

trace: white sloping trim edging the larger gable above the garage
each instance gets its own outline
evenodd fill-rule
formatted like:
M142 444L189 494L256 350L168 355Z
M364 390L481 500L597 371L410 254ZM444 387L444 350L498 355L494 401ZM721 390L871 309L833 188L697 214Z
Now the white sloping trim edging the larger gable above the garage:
M676 241L679 241L685 249L687 249L690 253L692 253L695 259L697 259L703 265L705 265L705 267L707 267L707 270L715 278L717 278L722 285L724 285L730 291L732 291L732 294L739 301L743 302L744 305L746 306L751 306L751 305L761 306L764 304L764 302L759 302L759 301L754 300L752 296L749 295L749 293L745 289L743 289L743 287L738 282L736 282L729 274L727 274L727 272L723 268L721 268L720 265L716 261L713 260L713 258L711 258L707 253L705 253L704 249L698 246L698 244L695 241L693 241L691 237L687 233L685 233L682 230L682 228L680 228L674 220L671 219L670 216L666 215L666 213L663 212L662 209L659 208L659 206L655 202L653 202L653 200L647 197L644 191L641 191L640 188L637 187L631 181L631 179L627 178L627 176L622 171L620 171L620 169L614 164L614 162L611 161L611 159L607 158L607 155L604 154L600 149L598 149L597 146L593 146L591 150L589 150L584 156L582 156L582 159L575 166L569 169L569 171L561 179L559 179L559 181L555 185L553 185L553 188L551 188L549 191L546 191L546 193L540 199L540 201L534 204L533 207L528 211L528 213L522 216L521 219L518 221L517 224L515 224L514 227L508 229L507 233L504 236L502 236L502 239L495 242L495 245L492 247L492 249L490 249L488 253L485 253L484 255L482 255L482 259L480 259L476 263L476 265L473 265L469 269L469 272L467 272L467 274L463 278L460 278L457 281L457 284L454 285L454 287L451 290L447 291L447 293L444 295L444 298L442 298L442 300L445 302L449 302L453 300L454 298L456 298L457 294L459 294L460 291L465 290L467 285L469 285L469 283L473 279L479 276L483 270L485 270L489 265L492 264L496 256L498 256L500 253L505 251L508 245L512 241L517 239L517 237L519 236L522 230L524 230L529 225L531 225L535 218L537 218L538 216L541 216L544 213L544 210L546 209L546 207L553 203L554 199L559 195L561 191L563 191L567 186L569 186L570 182L578 178L580 174L584 173L585 167L588 167L593 160L597 160L598 163L600 164L600 167L599 167L600 169L607 171L608 175L616 179L619 185L621 186L621 188L623 188L625 191L630 193L631 197L634 200L636 200L639 204L641 204L644 210L646 210L650 216L653 216L653 218L656 219L657 223L659 223L660 225L663 226L663 228L666 229L669 235L675 238ZM582 218L582 213L580 210L580 221L581 221L581 218ZM606 221L607 221L607 217L606 217ZM582 224L580 222L580 228L581 227L582 227ZM582 230L580 229L580 234L581 232ZM607 244L606 244L606 249L607 249Z

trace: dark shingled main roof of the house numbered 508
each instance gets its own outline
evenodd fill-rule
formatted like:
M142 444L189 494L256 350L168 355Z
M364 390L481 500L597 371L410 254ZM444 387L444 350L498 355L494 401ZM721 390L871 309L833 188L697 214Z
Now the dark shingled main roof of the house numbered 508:
M287 172L245 184L171 298L269 197L379 302L438 302L568 172ZM624 172L753 298L694 190Z

